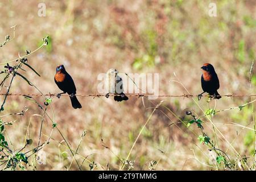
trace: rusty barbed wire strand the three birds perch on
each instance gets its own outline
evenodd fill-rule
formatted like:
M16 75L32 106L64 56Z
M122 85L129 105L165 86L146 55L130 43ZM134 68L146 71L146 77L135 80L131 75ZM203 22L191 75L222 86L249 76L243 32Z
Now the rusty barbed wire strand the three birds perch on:
M0 96L49 96L54 97L57 96L56 93L48 93L48 94L22 94L22 93L0 93ZM68 94L63 94L61 96L68 97ZM105 94L76 94L77 97L105 97ZM119 94L109 94L109 96L121 96ZM127 97L198 97L198 95L192 95L192 94L182 94L182 95L159 95L155 96L152 94L126 94ZM202 96L202 97L208 97L208 95ZM224 94L221 95L221 97L256 97L256 94Z

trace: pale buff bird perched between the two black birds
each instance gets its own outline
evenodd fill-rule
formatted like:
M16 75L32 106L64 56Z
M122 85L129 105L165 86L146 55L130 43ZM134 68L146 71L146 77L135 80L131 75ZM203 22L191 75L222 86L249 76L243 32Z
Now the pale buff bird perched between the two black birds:
M114 96L114 100L121 102L127 101L128 97L123 93L123 82L122 78L117 75L118 71L114 68L109 69L106 73L105 86L108 88L106 98L109 98L109 94L119 95Z

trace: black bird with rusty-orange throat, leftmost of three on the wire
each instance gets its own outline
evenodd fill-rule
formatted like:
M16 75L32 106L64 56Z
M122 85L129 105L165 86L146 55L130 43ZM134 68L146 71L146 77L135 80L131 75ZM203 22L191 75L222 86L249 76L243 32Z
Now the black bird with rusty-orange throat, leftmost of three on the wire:
M73 81L72 77L68 74L68 72L65 70L63 65L59 65L56 68L54 80L56 85L59 87L60 90L63 91L63 93L69 94L73 108L80 109L82 106L76 98L75 82ZM58 94L58 97L60 97L60 94Z

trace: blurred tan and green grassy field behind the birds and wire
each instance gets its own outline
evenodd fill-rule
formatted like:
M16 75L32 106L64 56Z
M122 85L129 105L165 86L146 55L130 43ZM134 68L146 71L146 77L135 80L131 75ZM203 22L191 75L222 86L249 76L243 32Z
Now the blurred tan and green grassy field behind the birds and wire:
M189 93L197 95L202 92L200 67L204 63L211 63L216 69L220 94L255 93L256 75L251 78L250 90L249 71L256 50L256 1L214 1L216 17L208 14L211 2L3 0L0 2L1 42L6 34L12 37L10 27L17 26L15 39L0 48L1 63L15 59L18 52L24 55L27 49L34 51L42 44L42 38L49 35L48 46L27 57L41 77L31 71L21 72L44 94L60 93L53 77L56 66L64 64L76 83L77 94L97 93L98 74L116 68L122 73L159 73L159 94L187 93L179 83L172 82L179 80ZM38 15L39 3L45 3L46 16ZM6 89L4 87L2 92ZM10 92L39 93L20 77L15 77ZM1 96L1 100L3 98ZM44 97L35 99L44 102ZM90 169L90 162L97 164L96 170L119 169L121 160L126 159L155 105L162 100L163 106L181 118L192 119L185 116L186 108L196 115L202 115L208 109L205 97L196 101L203 111L192 98L183 97L144 99L144 104L142 98L137 97L121 103L112 97L79 97L82 109L76 110L68 97L52 100L57 127L73 150L76 150L82 132L87 131L76 156L85 170ZM217 100L216 110L240 106L250 100L250 97L222 97ZM215 102L211 101L209 105L213 109ZM24 97L10 96L1 113L17 113L24 106L29 110L23 117L3 118L6 122L16 120L13 126L6 126L16 150L24 146L27 134L34 141L28 149L37 145L42 110ZM53 117L52 111L48 114ZM148 170L152 160L157 162L156 170L212 169L205 165L209 164L208 147L197 139L200 129L196 125L187 128L177 123L177 117L164 107L155 111L131 151L129 161L135 161L133 169ZM209 137L214 139L211 123L206 118L201 120L205 122ZM173 122L177 125L171 125ZM214 115L213 122L223 134L221 138L225 137L241 156L248 157L249 163L253 162L251 105L241 111L220 112ZM42 141L47 139L51 128L51 121L46 119ZM236 154L226 140L218 140L220 148L236 160ZM65 144L60 133L53 130L52 140L43 148L46 164L38 164L37 169L65 170L69 166L72 154L59 142ZM87 156L84 163L82 156ZM78 169L75 162L71 169Z

